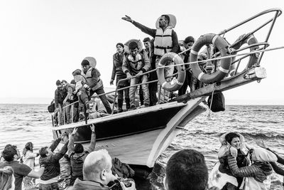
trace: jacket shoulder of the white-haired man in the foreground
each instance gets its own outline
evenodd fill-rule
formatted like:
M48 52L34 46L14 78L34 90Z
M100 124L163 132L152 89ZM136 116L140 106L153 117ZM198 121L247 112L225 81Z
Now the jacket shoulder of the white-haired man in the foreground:
M107 190L108 186L104 186L95 181L81 181L80 179L76 179L73 190Z

